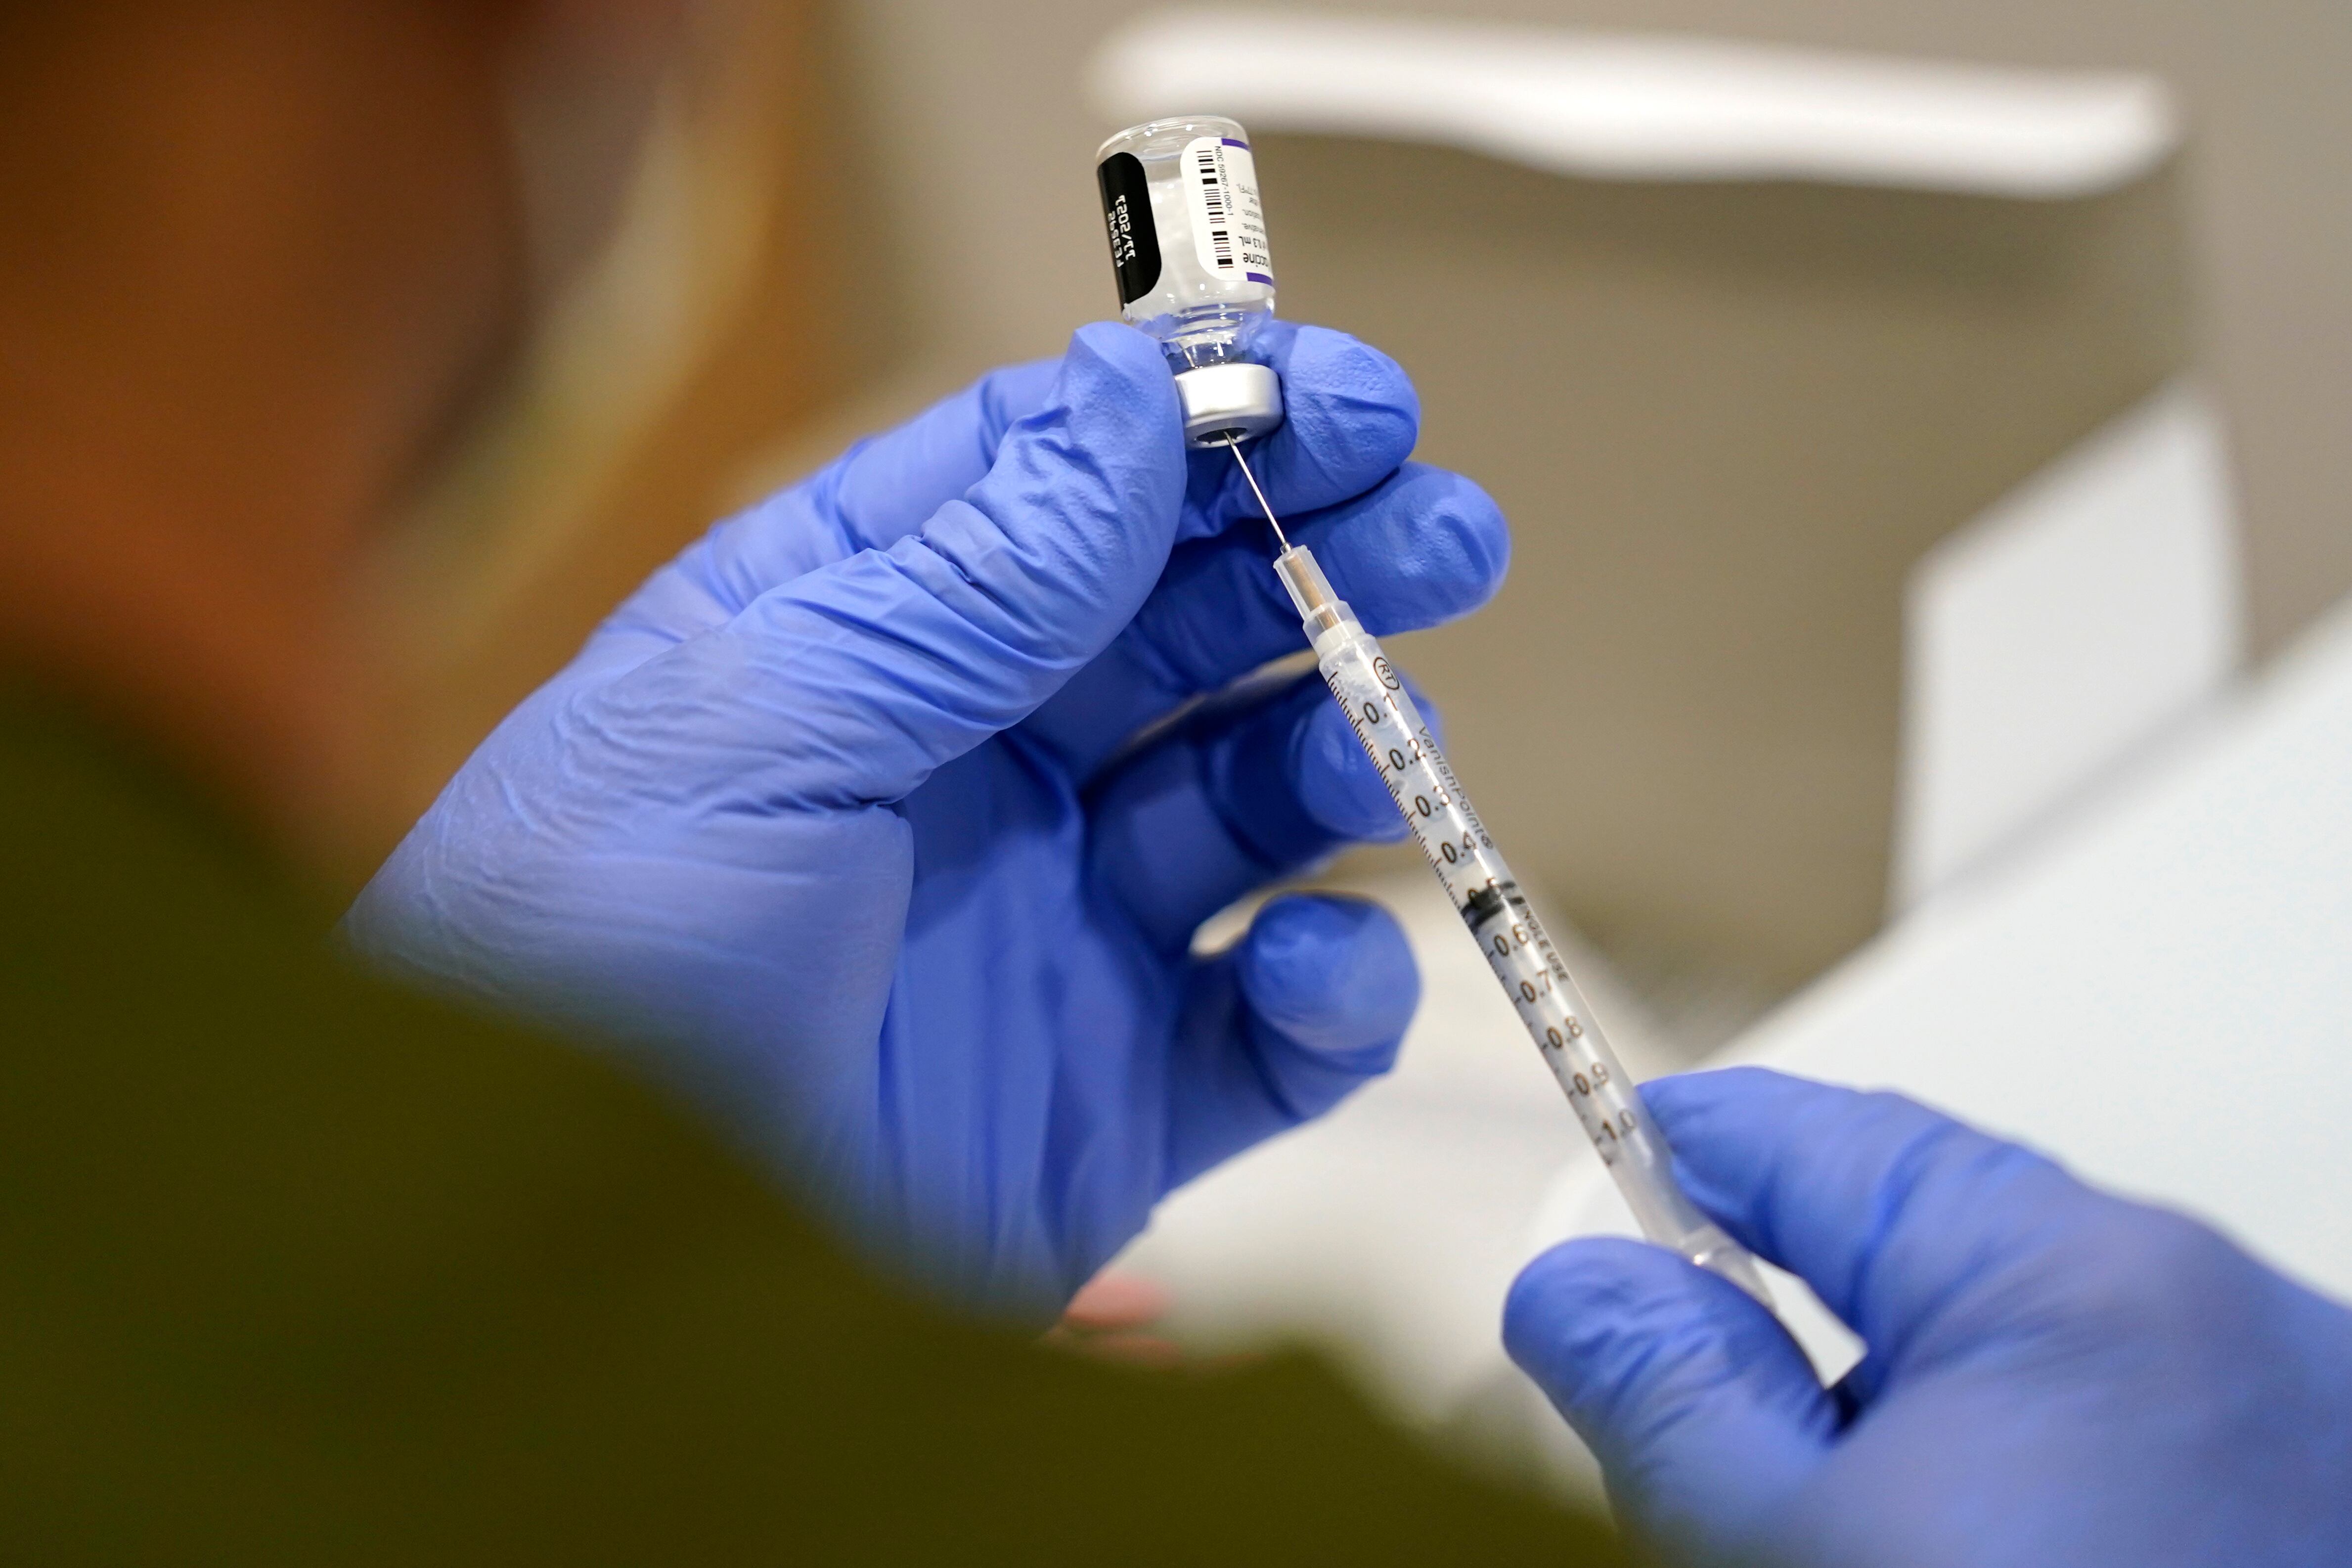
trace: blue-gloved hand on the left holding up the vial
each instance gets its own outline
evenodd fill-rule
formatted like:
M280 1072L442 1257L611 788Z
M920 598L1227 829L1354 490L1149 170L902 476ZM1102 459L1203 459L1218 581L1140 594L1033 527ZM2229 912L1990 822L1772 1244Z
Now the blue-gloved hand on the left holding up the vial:
M1385 355L1272 327L1270 503L1369 625L1486 599L1503 520L1404 463ZM1284 898L1395 809L1160 346L1087 327L656 574L442 792L362 952L628 1039L877 1248L1049 1314L1178 1182L1395 1058L1395 922ZM1131 745L1134 743L1134 745Z

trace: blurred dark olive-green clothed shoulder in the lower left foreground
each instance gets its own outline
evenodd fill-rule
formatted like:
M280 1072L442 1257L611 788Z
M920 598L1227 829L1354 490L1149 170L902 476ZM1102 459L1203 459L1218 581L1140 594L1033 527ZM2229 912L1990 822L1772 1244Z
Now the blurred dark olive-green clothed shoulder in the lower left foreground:
M863 1274L597 1053L358 973L0 708L0 1554L1616 1561L1322 1371L1117 1373Z

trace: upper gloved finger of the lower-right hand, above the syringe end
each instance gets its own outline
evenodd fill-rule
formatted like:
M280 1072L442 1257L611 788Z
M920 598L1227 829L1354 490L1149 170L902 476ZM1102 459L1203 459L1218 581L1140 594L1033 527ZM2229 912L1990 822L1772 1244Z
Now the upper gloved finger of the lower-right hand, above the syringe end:
M2056 1276L2084 1206L2110 1201L1893 1093L1726 1067L1642 1098L1691 1199L1870 1342L1865 1382L1950 1314Z

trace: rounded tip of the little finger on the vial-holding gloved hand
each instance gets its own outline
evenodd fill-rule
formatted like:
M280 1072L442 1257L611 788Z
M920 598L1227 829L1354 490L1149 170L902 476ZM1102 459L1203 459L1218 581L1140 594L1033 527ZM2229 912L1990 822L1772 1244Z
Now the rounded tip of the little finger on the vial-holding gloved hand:
M1350 1063L1362 1072L1385 1072L1421 1006L1404 929L1362 898L1275 898L1242 938L1237 973L1263 1023L1317 1053L1367 1053Z

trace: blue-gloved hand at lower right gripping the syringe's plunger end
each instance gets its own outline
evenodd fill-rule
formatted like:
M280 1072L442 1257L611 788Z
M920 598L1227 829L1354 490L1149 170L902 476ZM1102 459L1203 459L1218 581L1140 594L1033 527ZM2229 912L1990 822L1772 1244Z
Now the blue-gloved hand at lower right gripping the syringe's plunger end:
M1644 1100L1691 1197L1867 1342L1823 1392L1637 1241L1519 1276L1510 1354L1675 1563L2352 1563L2352 1314L1898 1095L1757 1067Z

